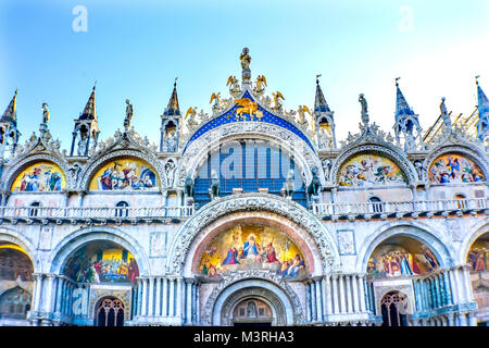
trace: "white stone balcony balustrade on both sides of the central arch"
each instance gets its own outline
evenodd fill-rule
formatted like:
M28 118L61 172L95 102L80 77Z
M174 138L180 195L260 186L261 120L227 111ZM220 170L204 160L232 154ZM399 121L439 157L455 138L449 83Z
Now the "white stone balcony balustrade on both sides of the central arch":
M261 194L263 195L263 194ZM362 203L313 203L310 211L323 220L417 217L435 215L487 214L488 198L362 202ZM0 207L1 223L168 223L180 222L195 213L187 207Z

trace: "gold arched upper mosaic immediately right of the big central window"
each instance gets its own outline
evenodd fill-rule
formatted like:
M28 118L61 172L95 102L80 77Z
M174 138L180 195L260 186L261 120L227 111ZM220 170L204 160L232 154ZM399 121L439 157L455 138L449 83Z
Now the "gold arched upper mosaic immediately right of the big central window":
M340 186L367 187L408 184L399 165L375 153L356 154L347 160L339 170Z

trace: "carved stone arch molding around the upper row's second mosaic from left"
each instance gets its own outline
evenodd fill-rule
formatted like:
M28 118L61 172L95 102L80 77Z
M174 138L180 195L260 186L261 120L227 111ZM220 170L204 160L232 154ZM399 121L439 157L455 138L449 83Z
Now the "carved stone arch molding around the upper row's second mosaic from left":
M147 162L156 171L158 179L160 181L160 188L163 188L166 185L165 184L166 176L164 173L164 167L155 157L141 152L139 150L116 150L88 162L85 169L83 169L80 174L78 175L79 181L78 187L83 190L88 190L88 187L95 173L106 162L115 160L121 157L138 158Z

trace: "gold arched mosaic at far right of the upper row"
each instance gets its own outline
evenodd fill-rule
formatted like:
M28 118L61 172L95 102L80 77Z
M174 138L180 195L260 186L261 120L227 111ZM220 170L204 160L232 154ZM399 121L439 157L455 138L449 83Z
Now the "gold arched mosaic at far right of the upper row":
M485 182L480 167L471 159L457 153L444 153L432 161L428 179L436 184Z

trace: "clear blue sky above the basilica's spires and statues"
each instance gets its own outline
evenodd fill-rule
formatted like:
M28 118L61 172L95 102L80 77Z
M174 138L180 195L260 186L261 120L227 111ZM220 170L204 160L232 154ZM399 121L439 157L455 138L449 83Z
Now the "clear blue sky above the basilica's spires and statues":
M285 108L314 103L315 74L335 111L337 138L356 132L359 94L371 120L391 130L394 78L427 129L441 97L453 113L476 104L475 75L489 92L489 1L95 1L0 2L0 112L18 88L24 142L51 111L50 129L71 145L73 120L97 80L101 138L122 128L125 99L136 130L159 142L160 115L178 76L180 109L211 113L213 91L251 71L279 90ZM87 9L87 32L72 14Z

